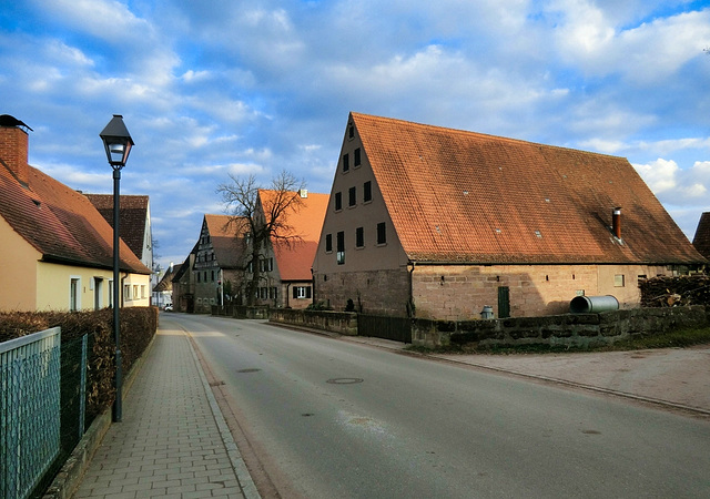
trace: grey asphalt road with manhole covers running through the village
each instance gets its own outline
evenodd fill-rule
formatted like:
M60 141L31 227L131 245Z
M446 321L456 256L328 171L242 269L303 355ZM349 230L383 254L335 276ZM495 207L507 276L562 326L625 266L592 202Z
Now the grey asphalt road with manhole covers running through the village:
M282 497L710 497L708 421L253 320L161 320L190 332Z

